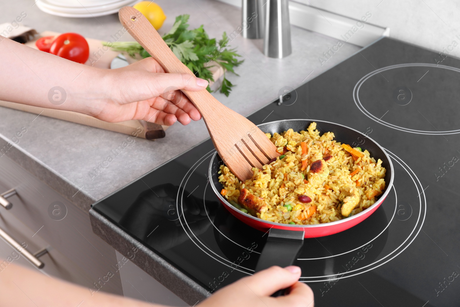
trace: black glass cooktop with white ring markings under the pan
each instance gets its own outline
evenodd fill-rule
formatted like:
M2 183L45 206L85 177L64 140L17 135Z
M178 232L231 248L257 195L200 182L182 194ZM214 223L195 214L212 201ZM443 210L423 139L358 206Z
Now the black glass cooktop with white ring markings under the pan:
M305 239L295 264L315 306L458 306L459 85L459 59L383 38L248 117L352 127L395 168L367 220ZM213 194L213 152L207 140L93 205L210 292L253 273L267 237Z

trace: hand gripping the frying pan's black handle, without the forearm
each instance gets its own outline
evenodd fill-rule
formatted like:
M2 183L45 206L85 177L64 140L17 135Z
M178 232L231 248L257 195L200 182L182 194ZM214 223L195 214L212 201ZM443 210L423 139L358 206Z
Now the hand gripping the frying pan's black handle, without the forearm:
M313 291L299 277L298 266L272 266L222 288L198 307L313 307ZM288 294L270 296L285 288Z

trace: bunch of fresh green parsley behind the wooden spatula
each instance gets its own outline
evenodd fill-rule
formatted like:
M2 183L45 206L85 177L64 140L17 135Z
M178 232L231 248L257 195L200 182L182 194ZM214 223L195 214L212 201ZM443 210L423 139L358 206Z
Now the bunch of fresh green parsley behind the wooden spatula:
M163 40L173 51L178 59L181 60L197 77L207 81L214 81L212 72L208 69L207 63L214 61L214 63L224 68L224 79L219 88L221 93L228 96L233 84L225 78L225 71L230 71L235 75L233 68L243 63L238 61L237 57L241 57L236 53L235 48L228 49L228 37L224 32L222 39L216 41L215 38L210 39L203 25L200 27L189 30L189 15L179 15L173 24L173 28L162 36ZM132 57L134 54L139 54L142 58L150 57L150 54L137 42L115 42L107 43L116 51L124 51L129 53ZM209 92L212 92L209 86Z

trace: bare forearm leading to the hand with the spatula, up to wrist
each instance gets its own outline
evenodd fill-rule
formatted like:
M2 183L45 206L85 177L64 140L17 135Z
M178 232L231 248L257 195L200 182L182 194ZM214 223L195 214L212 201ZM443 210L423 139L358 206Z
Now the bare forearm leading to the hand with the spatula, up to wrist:
M110 75L0 36L0 100L97 114Z

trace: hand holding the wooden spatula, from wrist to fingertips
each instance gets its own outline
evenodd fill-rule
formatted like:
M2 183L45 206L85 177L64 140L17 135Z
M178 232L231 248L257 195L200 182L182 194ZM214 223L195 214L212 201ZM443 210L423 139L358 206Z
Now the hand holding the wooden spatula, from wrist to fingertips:
M110 97L94 117L106 122L131 119L170 126L201 119L200 112L180 90L205 90L208 82L189 74L167 74L153 58L107 72Z

